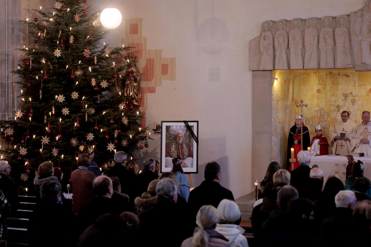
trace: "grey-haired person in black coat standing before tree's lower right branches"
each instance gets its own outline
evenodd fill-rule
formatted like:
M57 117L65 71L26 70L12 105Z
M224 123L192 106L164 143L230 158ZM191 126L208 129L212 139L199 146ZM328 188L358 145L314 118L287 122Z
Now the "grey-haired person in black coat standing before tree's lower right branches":
M130 200L134 201L137 196L137 176L125 168L127 157L125 152L116 152L114 167L106 171L104 175L108 177L118 177L120 180L121 192L127 194Z

